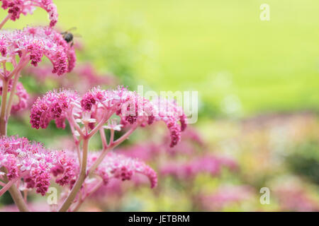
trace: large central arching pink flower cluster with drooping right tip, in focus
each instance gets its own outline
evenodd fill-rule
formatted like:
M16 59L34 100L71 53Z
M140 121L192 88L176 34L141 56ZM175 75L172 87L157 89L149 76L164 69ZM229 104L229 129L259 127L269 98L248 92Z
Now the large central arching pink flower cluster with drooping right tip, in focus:
M88 115L90 119L86 119ZM131 129L164 121L171 134L171 147L177 145L181 131L186 129L186 116L176 102L160 99L151 102L121 86L116 90L93 88L82 97L72 90L49 91L35 101L31 108L30 124L35 129L45 129L51 120L55 120L57 127L65 128L67 119L72 125L74 121L82 121L82 124L87 121L93 130L113 115L121 119L121 126Z

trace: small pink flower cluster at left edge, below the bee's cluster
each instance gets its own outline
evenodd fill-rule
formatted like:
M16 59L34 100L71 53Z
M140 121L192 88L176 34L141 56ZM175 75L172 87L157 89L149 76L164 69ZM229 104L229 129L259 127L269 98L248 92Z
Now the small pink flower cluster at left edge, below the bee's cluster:
M13 79L9 81L8 92L11 92ZM0 81L0 95L2 95L2 81ZM18 97L18 102L15 105L12 105L11 112L18 112L22 109L26 109L28 105L29 95L26 92L26 89L23 87L22 83L16 85L16 96Z

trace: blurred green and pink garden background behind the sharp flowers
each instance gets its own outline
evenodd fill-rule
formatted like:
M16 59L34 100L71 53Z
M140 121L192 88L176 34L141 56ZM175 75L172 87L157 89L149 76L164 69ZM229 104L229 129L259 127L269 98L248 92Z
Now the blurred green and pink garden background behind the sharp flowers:
M263 3L270 6L269 21L259 18ZM198 121L189 126L175 153L157 152L166 144L160 125L141 129L118 150L155 167L157 189L141 182L114 184L99 198L92 197L83 210L319 210L318 2L55 0L55 4L60 14L57 28L77 28L72 32L78 65L89 64L111 78L99 85L124 84L131 90L144 85L157 92L196 90L199 95ZM5 28L47 24L43 18L47 13L37 9L33 16L9 21ZM25 73L22 80L30 93L63 86L50 80L38 83L32 71ZM74 75L65 79L77 81ZM11 119L9 135L18 133L65 148L67 129L53 125L30 129L28 112ZM92 149L100 147L91 143ZM136 149L154 156L138 155ZM222 169L187 171L195 160L207 156L218 160ZM233 165L220 163L220 158ZM182 175L168 170L172 162L180 163ZM267 205L259 202L262 187L270 190ZM10 202L9 197L0 198L2 204Z

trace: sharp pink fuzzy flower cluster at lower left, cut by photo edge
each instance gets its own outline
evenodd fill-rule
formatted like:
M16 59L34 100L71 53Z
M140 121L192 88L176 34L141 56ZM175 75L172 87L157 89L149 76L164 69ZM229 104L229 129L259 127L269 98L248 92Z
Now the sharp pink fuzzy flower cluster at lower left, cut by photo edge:
M0 138L1 167L6 169L1 177L7 177L9 181L23 179L21 189L35 189L43 196L52 175L57 184L72 185L76 169L75 161L64 151L47 150L40 143L17 136Z

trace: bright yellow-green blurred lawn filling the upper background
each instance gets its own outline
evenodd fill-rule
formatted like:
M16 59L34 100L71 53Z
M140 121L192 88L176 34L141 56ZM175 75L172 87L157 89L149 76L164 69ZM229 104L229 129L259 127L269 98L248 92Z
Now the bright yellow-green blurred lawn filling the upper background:
M269 22L259 20L259 6L265 2L270 5ZM154 90L198 90L208 106L222 106L230 96L240 114L319 109L319 1L55 0L55 4L58 25L77 27L88 47L80 58L92 59L101 69L113 71L112 56L103 57L108 52L108 46L103 47L106 26L123 21L121 25L147 31L142 47L130 42L134 38L130 35L120 32L115 37L115 45L137 45L129 60L139 84ZM47 18L45 14L38 9L35 16L7 23L6 28L37 24ZM137 59L143 55L148 57L146 65Z

